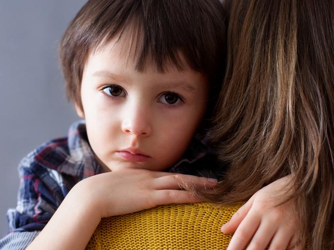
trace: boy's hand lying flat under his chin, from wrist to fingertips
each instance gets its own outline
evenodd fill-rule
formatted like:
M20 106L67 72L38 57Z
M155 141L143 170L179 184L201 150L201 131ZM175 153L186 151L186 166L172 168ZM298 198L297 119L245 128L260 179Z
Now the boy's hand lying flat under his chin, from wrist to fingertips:
M200 185L213 188L215 179L126 169L89 177L75 188L83 197L84 205L92 207L97 215L109 217L137 212L170 203L199 202L191 192L179 190L180 186Z

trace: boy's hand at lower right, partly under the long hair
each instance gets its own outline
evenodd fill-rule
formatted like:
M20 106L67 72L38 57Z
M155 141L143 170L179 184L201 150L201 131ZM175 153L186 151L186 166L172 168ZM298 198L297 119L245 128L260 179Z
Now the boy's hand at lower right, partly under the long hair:
M297 216L294 214L293 201L275 206L282 201L281 195L286 192L291 176L272 182L256 192L232 216L231 220L221 227L225 234L234 233L228 250L265 249L270 242L270 249L303 249L299 241Z

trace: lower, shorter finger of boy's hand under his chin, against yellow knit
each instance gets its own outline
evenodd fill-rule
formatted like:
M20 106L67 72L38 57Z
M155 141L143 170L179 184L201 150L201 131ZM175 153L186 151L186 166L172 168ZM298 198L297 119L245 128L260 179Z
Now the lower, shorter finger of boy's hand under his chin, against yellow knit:
M200 202L191 192L182 190L157 190L153 193L153 200L154 205Z

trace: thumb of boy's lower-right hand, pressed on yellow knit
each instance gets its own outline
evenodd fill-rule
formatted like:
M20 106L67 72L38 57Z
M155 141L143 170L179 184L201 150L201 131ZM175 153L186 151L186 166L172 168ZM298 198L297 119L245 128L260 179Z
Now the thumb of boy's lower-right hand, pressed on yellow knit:
M254 201L254 195L244 204L242 205L237 212L234 213L229 222L221 227L221 232L224 234L232 234L236 231L236 228L243 221L243 219L248 214L251 209Z

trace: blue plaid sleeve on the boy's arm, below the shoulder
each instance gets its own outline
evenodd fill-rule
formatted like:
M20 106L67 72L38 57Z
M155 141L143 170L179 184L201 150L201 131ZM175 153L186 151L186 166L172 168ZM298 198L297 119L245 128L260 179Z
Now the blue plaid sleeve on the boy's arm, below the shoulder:
M1 239L1 244L10 245L11 241L17 244L20 240L31 242L36 233L43 230L63 199L58 192L60 183L52 178L51 170L34 161L34 154L20 162L18 173L17 205L7 212L9 234ZM3 249L1 244L0 249Z

